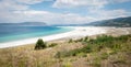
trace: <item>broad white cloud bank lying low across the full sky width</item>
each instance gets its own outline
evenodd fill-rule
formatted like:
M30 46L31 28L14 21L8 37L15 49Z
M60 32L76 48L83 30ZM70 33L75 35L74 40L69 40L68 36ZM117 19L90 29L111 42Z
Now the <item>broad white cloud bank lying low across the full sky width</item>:
M38 21L47 22L48 24L81 24L88 23L97 20L114 19L120 16L128 16L126 10L97 10L95 16L82 16L74 13L52 13L48 11L35 11L35 10L24 10L24 11L13 11L13 12L2 12L0 13L0 21L4 22L26 22L26 21Z

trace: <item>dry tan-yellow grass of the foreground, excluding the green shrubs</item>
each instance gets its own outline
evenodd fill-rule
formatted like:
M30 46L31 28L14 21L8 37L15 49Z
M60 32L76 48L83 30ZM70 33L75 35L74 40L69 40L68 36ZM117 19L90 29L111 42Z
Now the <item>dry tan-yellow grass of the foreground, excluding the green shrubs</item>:
M63 58L55 58L55 55L61 51L71 51L83 47L81 42L68 43L49 42L48 44L57 43L53 47L34 51L34 44L24 46L1 48L0 49L0 67L130 67L131 65L131 41L123 43L126 48L120 53L115 53L110 48L103 48L100 52L87 53L85 57L70 56ZM124 53L123 51L128 51ZM105 55L110 54L109 56Z

